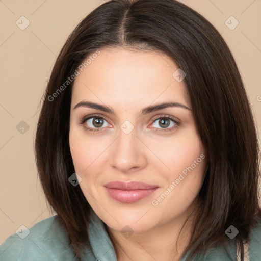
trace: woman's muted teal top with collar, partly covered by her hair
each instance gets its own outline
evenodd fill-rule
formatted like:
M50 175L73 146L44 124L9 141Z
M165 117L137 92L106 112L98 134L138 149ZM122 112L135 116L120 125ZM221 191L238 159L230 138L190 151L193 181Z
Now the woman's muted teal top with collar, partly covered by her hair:
M93 211L88 234L90 247L86 247L82 261L117 261L114 247L105 229L105 223ZM194 260L235 261L236 256L235 240L232 239L229 240L227 249L221 246L210 249L204 256L197 255ZM76 260L76 257L69 244L66 230L58 222L57 216L53 216L29 228L29 233L28 230L24 230L9 236L0 245L0 260L73 261ZM182 260L186 260L186 257ZM251 231L249 261L261 261L261 223Z

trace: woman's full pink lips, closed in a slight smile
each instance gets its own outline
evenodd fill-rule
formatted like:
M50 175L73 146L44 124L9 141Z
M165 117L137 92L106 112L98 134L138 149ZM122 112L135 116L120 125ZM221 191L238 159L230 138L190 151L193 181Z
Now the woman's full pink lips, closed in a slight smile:
M155 192L159 187L143 182L113 181L104 185L109 195L122 203L137 202Z

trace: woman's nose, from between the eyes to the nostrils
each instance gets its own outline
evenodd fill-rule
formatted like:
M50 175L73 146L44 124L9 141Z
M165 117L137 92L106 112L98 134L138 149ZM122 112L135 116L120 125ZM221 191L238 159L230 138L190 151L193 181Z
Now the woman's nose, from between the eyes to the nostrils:
M144 144L137 137L136 129L129 134L120 129L119 136L111 147L110 165L125 174L138 171L146 167L145 151Z

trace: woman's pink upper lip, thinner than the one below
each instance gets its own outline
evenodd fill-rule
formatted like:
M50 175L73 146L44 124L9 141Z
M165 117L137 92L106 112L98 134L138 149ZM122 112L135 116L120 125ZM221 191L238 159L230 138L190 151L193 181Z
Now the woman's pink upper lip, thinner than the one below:
M143 182L131 181L131 182L122 182L122 181L112 181L104 185L109 189L119 189L119 190L149 190L155 189L159 186L150 185Z

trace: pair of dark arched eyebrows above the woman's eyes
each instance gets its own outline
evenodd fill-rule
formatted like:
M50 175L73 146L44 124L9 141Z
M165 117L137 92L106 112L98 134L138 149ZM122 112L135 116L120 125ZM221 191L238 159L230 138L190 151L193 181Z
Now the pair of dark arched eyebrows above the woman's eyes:
M74 106L73 110L76 108L79 108L79 107L87 107L87 108L97 109L97 110L100 110L103 112L115 114L115 112L113 111L112 108L110 108L108 106L99 105L98 103L94 103L94 102L90 102L90 101L81 101L81 102L77 103ZM141 110L140 114L148 114L148 113L159 111L159 110L169 108L169 107L180 107L180 108L192 111L190 108L188 108L187 106L185 106L179 102L164 102L164 103L158 103L158 104L152 105L152 106L147 106Z

